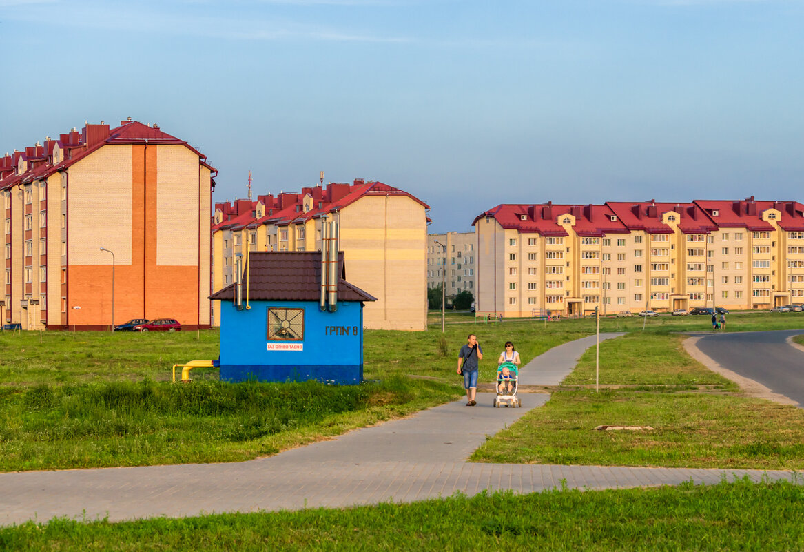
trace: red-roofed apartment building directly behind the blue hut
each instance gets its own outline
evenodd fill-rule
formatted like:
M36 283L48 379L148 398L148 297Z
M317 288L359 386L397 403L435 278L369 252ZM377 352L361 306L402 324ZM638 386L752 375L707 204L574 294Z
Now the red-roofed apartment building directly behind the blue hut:
M365 326L424 330L428 208L408 192L363 179L217 203L212 216L213 290L235 281L238 256L249 251L320 250L322 223L329 220L338 223L346 278L377 299L365 306ZM219 307L213 308L217 321Z

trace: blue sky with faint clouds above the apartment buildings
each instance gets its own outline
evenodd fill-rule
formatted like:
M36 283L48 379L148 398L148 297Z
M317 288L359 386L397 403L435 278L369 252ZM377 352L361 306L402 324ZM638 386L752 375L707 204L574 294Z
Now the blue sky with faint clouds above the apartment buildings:
M798 0L0 0L0 154L156 122L213 200L375 179L500 203L804 200Z

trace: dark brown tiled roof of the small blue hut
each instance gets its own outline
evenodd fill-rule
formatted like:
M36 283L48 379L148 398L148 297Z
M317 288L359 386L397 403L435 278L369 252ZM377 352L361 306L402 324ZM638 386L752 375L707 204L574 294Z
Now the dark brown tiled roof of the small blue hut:
M376 301L375 297L347 282L343 251L338 253L338 301ZM316 301L321 298L321 252L257 251L249 253L251 268L243 270L243 300ZM250 282L249 282L250 280ZM232 301L235 284L224 287L209 299Z

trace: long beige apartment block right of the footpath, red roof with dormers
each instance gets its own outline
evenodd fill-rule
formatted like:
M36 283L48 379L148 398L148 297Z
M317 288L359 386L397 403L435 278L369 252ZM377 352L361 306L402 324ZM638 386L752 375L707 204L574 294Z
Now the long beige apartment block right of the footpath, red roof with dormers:
M798 202L503 204L473 225L478 315L804 303Z

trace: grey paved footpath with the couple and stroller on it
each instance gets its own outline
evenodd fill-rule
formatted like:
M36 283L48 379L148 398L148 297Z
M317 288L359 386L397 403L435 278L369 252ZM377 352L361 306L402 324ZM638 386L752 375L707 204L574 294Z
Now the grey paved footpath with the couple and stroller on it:
M621 334L601 334L601 340ZM520 371L523 385L556 385L595 343L586 337L560 345ZM497 352L488 351L490 356ZM485 373L484 380L493 381ZM121 521L203 513L343 507L381 501L421 501L454 492L535 492L717 483L723 476L793 480L792 472L683 468L611 468L467 463L494 435L549 398L522 393L522 408L493 408L493 393L466 398L337 439L243 463L102 468L0 474L0 524L52 517Z

